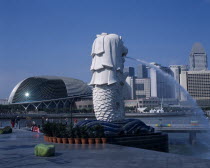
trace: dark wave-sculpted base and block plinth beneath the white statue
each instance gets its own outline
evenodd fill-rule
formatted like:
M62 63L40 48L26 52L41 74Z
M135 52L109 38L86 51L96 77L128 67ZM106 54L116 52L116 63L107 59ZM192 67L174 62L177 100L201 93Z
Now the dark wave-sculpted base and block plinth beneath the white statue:
M155 132L153 127L147 126L141 120L124 119L115 122L84 120L76 126L86 126L89 129L96 125L104 127L109 144L168 152L168 134Z

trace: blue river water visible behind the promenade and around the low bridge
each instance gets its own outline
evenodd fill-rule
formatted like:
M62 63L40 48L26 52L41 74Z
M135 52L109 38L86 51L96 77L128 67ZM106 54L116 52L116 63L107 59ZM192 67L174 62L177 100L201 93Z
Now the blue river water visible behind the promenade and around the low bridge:
M191 117L143 117L139 118L144 121L146 124L186 124L190 121L195 120ZM63 122L64 119L49 119L54 122ZM74 120L74 119L73 119ZM84 120L84 118L78 119ZM32 119L32 120L20 120L20 127L25 127L27 124L30 124L31 121L35 121L37 125L41 125L41 119ZM70 123L71 119L68 119ZM11 125L9 120L0 119L0 126ZM197 133L196 135L196 144L190 145L189 143L189 134L188 133L169 133L169 153L181 154L185 156L194 156L203 159L210 159L210 138L208 133Z

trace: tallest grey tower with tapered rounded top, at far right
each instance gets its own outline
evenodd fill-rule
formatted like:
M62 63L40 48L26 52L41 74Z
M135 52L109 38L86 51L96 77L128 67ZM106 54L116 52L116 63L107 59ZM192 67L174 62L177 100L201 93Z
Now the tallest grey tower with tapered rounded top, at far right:
M201 71L207 69L207 54L201 43L195 43L190 53L190 71Z

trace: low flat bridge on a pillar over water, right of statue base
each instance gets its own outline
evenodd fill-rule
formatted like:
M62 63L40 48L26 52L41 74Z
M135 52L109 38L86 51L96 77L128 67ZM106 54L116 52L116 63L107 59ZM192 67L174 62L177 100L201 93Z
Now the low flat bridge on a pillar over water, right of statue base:
M189 143L195 144L196 133L205 133L210 129L206 125L191 125L191 124L168 124L168 125L158 125L158 124L148 124L155 128L156 131L166 132L166 133L189 133Z

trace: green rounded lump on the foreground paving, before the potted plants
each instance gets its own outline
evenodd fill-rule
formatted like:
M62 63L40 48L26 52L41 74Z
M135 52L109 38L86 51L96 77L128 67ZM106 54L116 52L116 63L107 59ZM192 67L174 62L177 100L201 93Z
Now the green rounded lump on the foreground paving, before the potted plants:
M55 145L38 144L34 148L36 156L49 157L55 155Z

